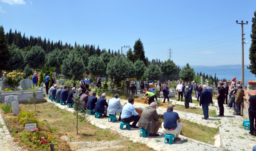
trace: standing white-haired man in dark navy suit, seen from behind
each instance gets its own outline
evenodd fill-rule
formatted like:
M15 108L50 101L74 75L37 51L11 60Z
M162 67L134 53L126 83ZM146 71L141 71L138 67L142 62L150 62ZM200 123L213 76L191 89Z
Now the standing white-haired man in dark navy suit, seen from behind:
M209 104L211 101L211 92L206 89L206 85L203 86L203 91L200 94L199 105L202 105L204 117L202 119L207 120L209 118Z

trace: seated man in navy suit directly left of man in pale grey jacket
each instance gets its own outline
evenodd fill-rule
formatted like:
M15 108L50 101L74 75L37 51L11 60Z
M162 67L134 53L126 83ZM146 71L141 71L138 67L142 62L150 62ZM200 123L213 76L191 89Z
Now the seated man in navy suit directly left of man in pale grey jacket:
M107 115L108 103L106 100L106 96L107 96L106 93L102 93L101 97L97 100L96 106L95 106L95 112L104 114L103 117L108 117Z

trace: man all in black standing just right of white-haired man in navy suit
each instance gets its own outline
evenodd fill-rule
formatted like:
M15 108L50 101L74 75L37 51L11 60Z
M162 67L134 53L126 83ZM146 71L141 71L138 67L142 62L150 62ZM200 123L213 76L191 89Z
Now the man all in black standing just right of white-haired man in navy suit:
M220 116L224 116L224 106L223 106L223 102L225 100L225 89L223 87L223 83L220 82L219 83L219 91L218 91L218 95L217 95L217 100L218 100L218 106L219 106L219 115L217 115L218 117Z

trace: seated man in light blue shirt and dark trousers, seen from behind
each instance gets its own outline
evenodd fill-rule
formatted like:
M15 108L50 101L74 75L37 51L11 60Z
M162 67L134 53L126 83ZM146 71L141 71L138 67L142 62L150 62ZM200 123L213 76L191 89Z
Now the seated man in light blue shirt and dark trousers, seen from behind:
M139 118L141 118L141 116L135 111L133 105L134 105L134 98L130 97L128 99L128 103L125 104L124 107L122 108L121 120L124 123L133 122L131 125L131 129L137 129L139 127L137 127L136 124L139 122Z

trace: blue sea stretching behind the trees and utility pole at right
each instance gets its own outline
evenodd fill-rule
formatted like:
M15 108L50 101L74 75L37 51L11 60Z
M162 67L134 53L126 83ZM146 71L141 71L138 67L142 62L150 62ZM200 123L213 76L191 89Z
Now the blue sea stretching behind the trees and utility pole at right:
M250 72L249 69L247 69L247 66L245 65L245 85L247 85L247 82L250 80L256 80L256 77L254 74ZM203 65L191 65L193 67L195 73L197 74L202 72L212 75L214 77L216 73L216 77L218 79L226 78L226 80L232 80L233 78L236 78L236 80L241 80L241 65L218 65L218 66L203 66Z

